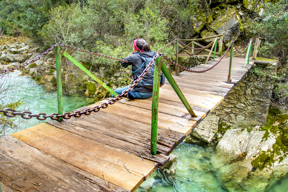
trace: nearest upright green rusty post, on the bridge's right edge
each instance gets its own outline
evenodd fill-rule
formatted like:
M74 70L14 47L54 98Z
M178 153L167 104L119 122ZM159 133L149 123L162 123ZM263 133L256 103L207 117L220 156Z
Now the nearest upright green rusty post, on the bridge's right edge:
M161 75L161 57L158 57L155 61L153 94L152 94L151 145L150 145L150 152L152 155L156 155L156 146L157 146L160 75Z

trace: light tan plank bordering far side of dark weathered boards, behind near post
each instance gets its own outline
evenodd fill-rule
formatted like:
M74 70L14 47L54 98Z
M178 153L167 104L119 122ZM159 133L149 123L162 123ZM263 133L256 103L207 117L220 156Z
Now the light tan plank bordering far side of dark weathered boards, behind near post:
M179 98L178 98L179 99ZM180 100L180 99L179 99ZM94 107L102 104L103 102L97 102L96 104L89 105L89 107ZM108 108L101 109L101 111L106 111L115 115L122 115L123 117L130 118L143 123L151 124L151 111L139 107L127 106L121 103L114 103ZM179 125L180 123L180 125ZM175 117L173 115L167 115L164 113L158 113L158 127L168 129L169 128L175 132L183 133L185 135L189 134L191 130L196 126L196 121L188 121L180 117ZM162 134L161 134L162 135ZM165 136L164 136L165 137Z

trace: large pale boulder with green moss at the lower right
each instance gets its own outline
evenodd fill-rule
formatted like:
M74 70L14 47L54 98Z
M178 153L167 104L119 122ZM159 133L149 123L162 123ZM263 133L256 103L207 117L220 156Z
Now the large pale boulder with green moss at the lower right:
M287 151L278 145L285 138L284 129L274 133L260 130L259 126L227 130L211 159L226 189L240 192L246 186L250 191L265 191L269 184L287 174Z

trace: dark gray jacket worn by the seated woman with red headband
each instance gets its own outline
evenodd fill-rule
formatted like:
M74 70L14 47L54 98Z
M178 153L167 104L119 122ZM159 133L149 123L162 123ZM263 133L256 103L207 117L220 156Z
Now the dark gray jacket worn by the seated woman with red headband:
M156 55L156 53L154 51L149 51L149 52L135 52L134 54L129 55L128 57L124 58L123 60L127 60L129 61L129 63L127 62L123 62L121 61L121 65L125 68L127 68L129 65L132 65L132 71L136 71L137 69L139 69L139 67L141 67L141 65L143 64L144 60L140 57L149 57L149 58L153 58L154 55ZM133 79L137 79L139 77L139 75L141 75L141 73L143 73L145 69L145 64L135 73L132 73L133 75ZM151 78L147 78L147 77L143 77L143 79L138 83L138 85L135 86L135 92L139 92L139 93L150 93L153 91L153 89L147 89L144 87L143 83L145 83L145 81L147 82L151 82L153 83L153 77Z

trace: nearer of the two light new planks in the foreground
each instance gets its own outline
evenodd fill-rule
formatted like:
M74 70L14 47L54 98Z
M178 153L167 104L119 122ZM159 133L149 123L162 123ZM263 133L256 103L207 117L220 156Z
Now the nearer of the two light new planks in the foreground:
M133 171L129 173L124 167L117 166L78 150L77 146L69 147L62 142L55 141L42 134L40 134L39 137L38 133L29 129L16 132L11 134L11 136L21 138L22 142L99 178L104 175L106 181L129 191L135 191L144 181L144 177L141 174Z

